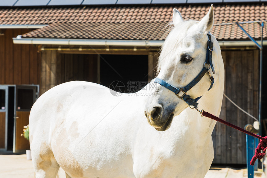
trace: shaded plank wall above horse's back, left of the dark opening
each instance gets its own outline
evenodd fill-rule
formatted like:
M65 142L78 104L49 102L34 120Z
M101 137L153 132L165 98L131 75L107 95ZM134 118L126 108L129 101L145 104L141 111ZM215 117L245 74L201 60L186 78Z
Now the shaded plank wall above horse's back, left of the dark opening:
M96 54L62 54L57 51L42 51L41 93L64 82L82 80L96 82Z

